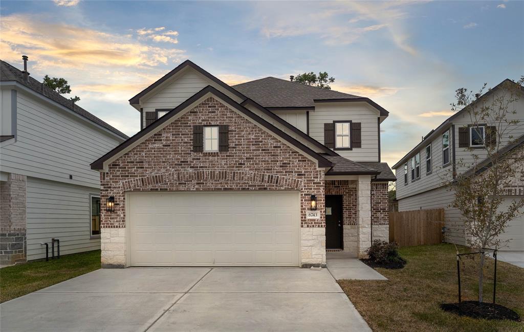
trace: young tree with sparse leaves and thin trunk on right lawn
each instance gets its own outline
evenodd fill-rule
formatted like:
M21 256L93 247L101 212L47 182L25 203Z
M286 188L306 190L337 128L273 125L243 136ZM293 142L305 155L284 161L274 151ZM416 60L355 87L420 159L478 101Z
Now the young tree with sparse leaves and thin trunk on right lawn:
M485 96L486 84L476 94L460 88L456 90L456 104L452 104L452 110L466 107L472 124L470 139L482 147L466 148L472 159L456 161L454 176L450 176L454 179L446 180L449 190L455 192L452 206L462 213L467 243L481 252L479 302L483 302L484 248L504 246L498 236L508 222L523 214L524 198L516 197L504 209L501 207L507 189L524 183L524 146L514 136L522 126L515 116L515 105L524 95L523 83L524 76L518 82L504 82L500 89Z

